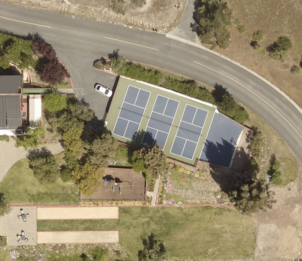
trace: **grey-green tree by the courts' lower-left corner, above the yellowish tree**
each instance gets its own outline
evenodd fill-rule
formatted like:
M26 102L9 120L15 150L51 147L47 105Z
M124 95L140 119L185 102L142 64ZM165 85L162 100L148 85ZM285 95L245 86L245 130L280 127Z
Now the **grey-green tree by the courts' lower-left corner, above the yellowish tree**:
M114 156L118 142L110 133L103 133L101 138L95 139L90 148L88 161L99 167L108 167L108 159Z

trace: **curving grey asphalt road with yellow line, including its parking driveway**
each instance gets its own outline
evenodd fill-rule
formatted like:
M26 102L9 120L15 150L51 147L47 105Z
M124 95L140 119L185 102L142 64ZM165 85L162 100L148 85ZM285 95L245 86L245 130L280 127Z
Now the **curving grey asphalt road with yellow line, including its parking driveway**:
M275 129L302 162L300 111L265 81L220 56L162 34L4 2L0 2L0 20L1 29L16 34L38 32L51 43L75 88L85 88L85 101L94 110L106 100L93 90L100 78L92 63L120 49L126 59L165 68L209 86L221 84ZM101 119L103 114L96 110L96 116Z

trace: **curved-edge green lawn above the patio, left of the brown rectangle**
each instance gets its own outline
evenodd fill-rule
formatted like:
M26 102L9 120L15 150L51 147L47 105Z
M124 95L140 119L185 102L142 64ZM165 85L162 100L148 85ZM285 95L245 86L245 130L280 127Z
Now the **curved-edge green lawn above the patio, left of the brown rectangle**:
M55 155L57 161L62 156ZM8 204L78 204L76 186L64 183L60 178L53 184L40 184L28 166L28 159L17 161L0 182L0 191L4 193Z

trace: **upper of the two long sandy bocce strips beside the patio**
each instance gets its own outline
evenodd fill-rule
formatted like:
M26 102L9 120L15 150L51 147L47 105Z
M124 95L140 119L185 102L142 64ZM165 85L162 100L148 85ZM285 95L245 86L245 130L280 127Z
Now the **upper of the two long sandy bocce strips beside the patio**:
M37 219L118 219L118 207L37 207Z

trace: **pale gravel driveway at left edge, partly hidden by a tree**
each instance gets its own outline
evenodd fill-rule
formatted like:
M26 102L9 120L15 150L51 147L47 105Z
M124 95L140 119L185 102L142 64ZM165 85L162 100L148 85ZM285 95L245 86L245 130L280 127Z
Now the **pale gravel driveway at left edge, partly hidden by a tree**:
M60 143L49 144L46 146L52 154L58 154L63 151ZM0 182L15 162L26 158L27 151L23 147L17 148L13 138L9 139L9 142L0 141Z

